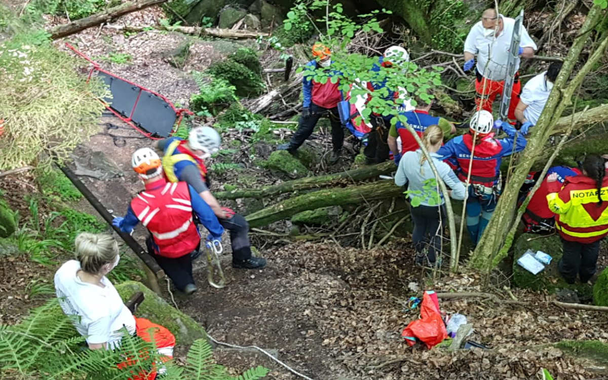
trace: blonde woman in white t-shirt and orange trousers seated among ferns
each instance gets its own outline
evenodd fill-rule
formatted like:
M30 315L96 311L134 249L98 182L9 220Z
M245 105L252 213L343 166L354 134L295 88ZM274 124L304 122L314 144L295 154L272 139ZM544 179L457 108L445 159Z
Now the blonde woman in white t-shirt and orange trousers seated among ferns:
M74 244L75 260L66 261L55 272L55 292L63 313L71 317L72 324L85 337L89 349L114 350L120 347L126 331L146 342L154 342L158 353L164 355L161 361L172 358L173 334L164 326L134 317L106 277L120 260L116 240L106 233L82 232ZM132 378L150 380L156 377L157 372L166 370L143 371L142 368L135 369L128 361L117 367L130 373L139 371L139 376Z

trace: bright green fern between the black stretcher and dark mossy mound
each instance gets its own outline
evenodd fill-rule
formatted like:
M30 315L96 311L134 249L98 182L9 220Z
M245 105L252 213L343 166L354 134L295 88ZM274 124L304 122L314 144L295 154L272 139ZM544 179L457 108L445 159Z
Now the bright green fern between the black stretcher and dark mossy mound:
M195 112L210 112L216 116L237 100L235 86L223 78L209 77L200 72L193 73L199 93L190 97L190 109Z

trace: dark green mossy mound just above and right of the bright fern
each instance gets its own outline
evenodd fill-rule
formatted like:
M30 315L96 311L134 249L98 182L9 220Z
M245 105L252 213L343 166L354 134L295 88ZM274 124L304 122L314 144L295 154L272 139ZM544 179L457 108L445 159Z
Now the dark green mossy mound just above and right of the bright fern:
M256 96L264 90L259 74L242 63L227 59L213 63L207 72L216 79L223 79L236 88L235 94L243 97Z

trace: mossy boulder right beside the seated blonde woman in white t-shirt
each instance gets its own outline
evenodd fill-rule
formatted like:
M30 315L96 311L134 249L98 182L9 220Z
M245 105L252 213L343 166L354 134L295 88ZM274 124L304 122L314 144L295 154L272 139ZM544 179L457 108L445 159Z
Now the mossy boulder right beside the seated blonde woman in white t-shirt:
M177 344L190 345L196 339L207 337L205 329L192 317L169 305L142 283L126 281L116 285L116 290L123 301L128 300L135 292L143 292L145 300L137 308L137 316L150 319L151 322L168 328L175 336Z

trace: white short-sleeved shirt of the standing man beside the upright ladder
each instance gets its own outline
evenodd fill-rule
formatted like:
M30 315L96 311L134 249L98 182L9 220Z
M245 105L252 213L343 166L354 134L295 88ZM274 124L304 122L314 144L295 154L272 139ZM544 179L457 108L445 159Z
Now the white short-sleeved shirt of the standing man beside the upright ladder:
M481 21L478 21L469 31L466 36L465 52L477 55L477 71L484 77L490 80L505 80L506 63L508 53L511 47L511 37L513 36L513 27L515 19L501 16L503 19L503 30L496 37L496 41L492 46L494 36L485 36L485 28ZM519 41L520 47L531 47L537 49L536 44L528 35L528 31L523 27L522 38ZM491 51L490 51L491 48ZM489 63L488 63L489 60ZM515 60L516 71L519 69L520 58ZM486 63L488 68L485 69ZM484 71L485 69L485 71Z

